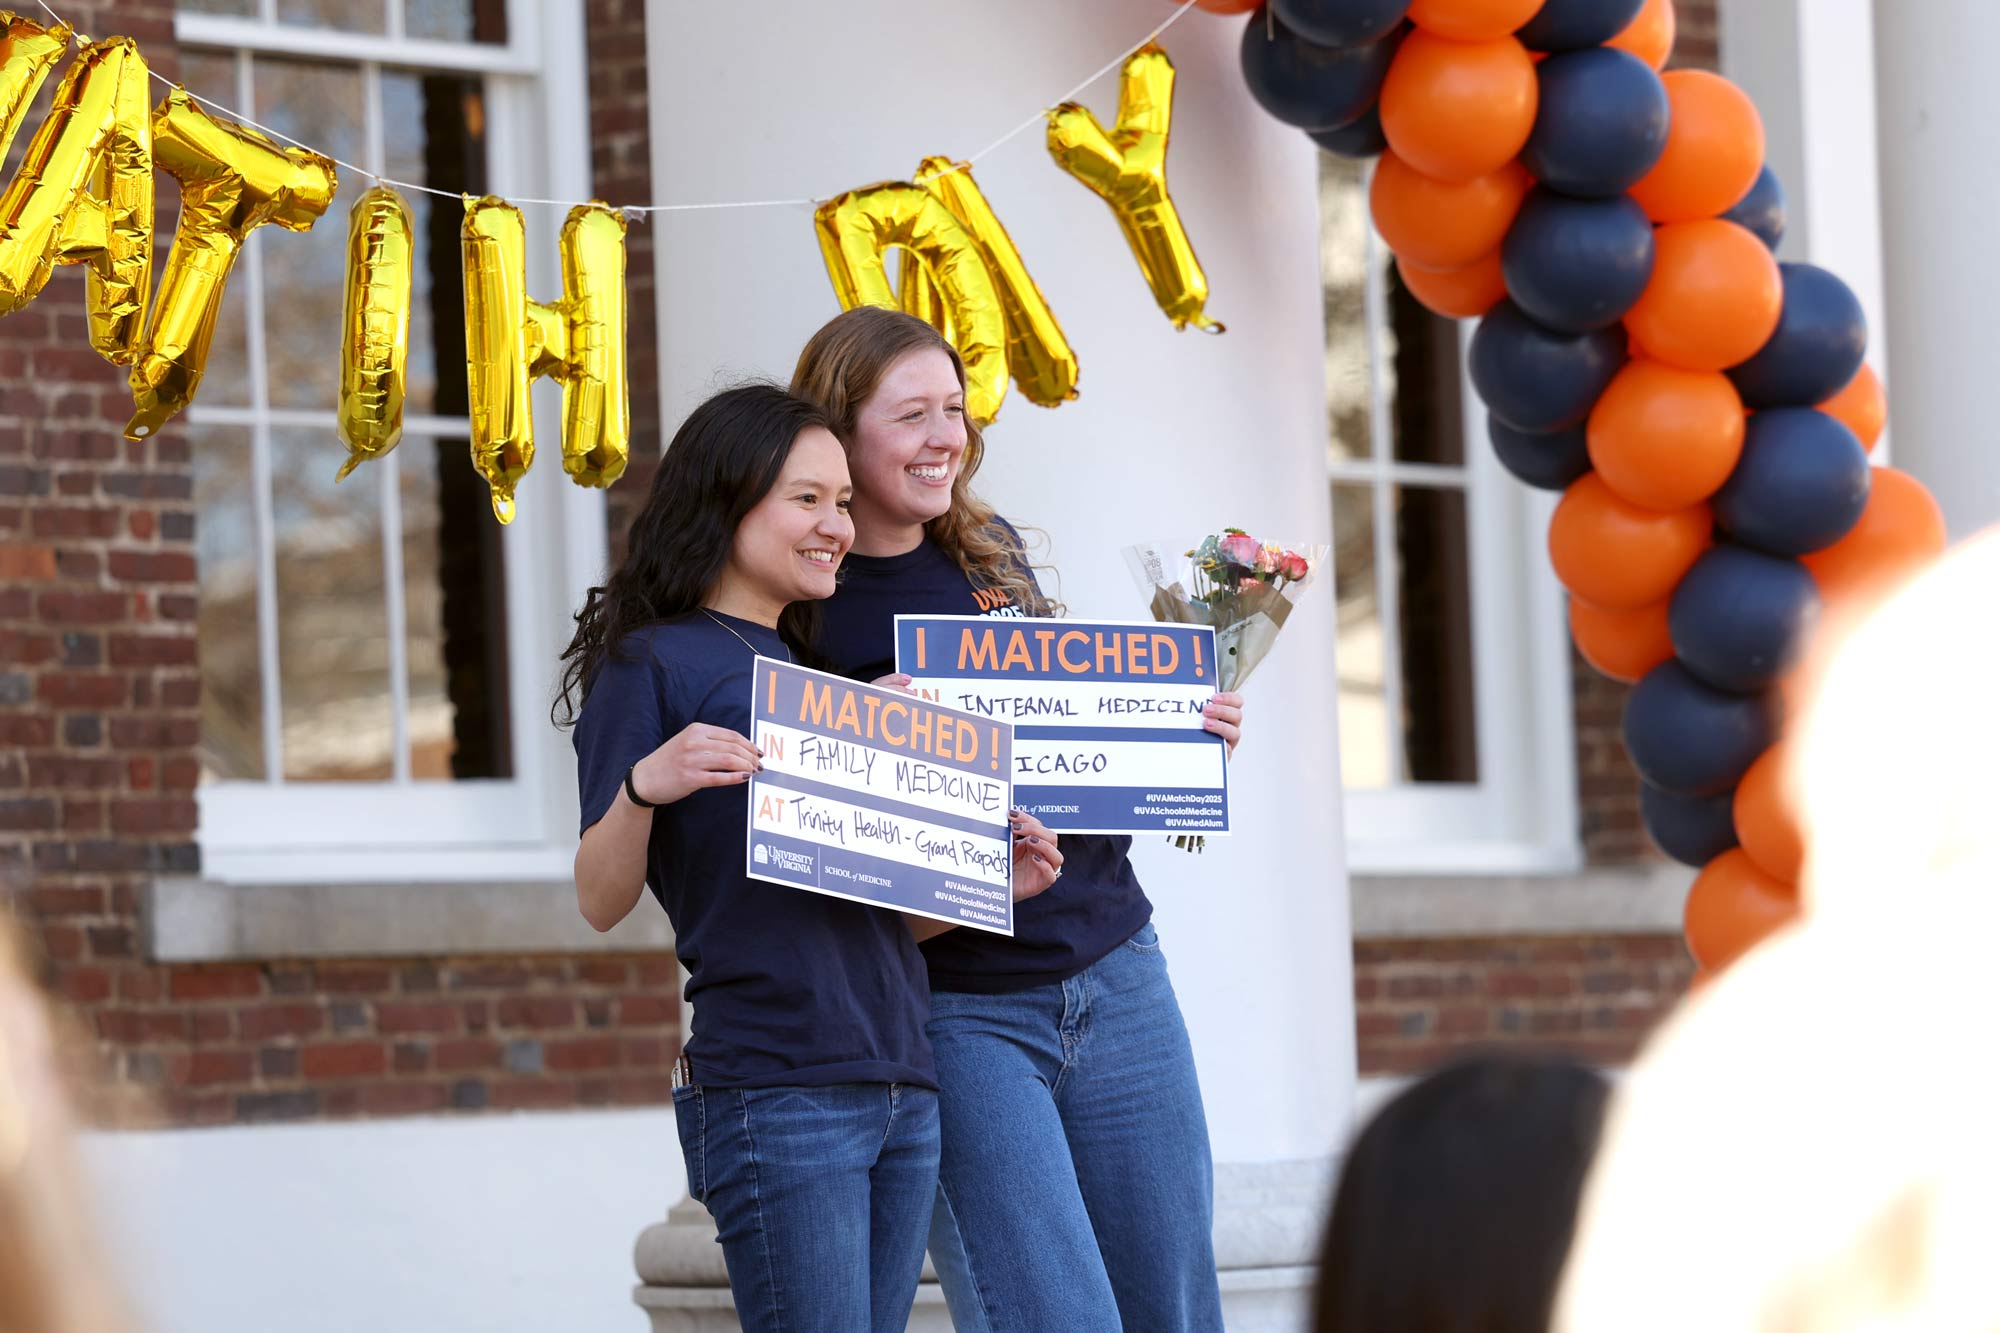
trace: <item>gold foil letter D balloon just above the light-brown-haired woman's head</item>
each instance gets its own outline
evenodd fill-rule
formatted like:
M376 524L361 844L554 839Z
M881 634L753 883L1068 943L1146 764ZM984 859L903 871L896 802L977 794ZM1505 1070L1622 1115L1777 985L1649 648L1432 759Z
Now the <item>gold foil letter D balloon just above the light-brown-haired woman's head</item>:
M990 422L1006 398L1006 312L978 242L952 210L922 186L892 180L826 200L812 224L842 310L900 308L884 260L898 246L916 256L942 298L942 326L966 362L966 412ZM904 286L912 278L906 272Z

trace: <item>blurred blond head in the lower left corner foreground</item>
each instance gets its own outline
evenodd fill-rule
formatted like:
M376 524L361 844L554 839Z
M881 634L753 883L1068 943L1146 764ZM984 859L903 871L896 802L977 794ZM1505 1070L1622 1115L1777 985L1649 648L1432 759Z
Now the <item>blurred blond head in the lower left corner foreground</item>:
M130 1327L84 1205L48 1009L0 909L0 1333Z

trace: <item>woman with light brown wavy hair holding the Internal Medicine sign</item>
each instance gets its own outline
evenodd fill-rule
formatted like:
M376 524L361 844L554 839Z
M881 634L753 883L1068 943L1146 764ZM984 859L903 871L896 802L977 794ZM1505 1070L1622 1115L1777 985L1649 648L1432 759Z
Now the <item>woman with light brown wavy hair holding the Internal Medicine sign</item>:
M972 492L964 362L930 324L848 310L792 392L854 472L854 554L818 638L834 671L892 673L896 614L1062 614ZM1234 747L1240 721L1242 697L1216 695L1204 725ZM930 1257L964 1333L1222 1327L1202 1091L1130 847L1068 835L1062 883L1012 937L924 943L944 1125Z

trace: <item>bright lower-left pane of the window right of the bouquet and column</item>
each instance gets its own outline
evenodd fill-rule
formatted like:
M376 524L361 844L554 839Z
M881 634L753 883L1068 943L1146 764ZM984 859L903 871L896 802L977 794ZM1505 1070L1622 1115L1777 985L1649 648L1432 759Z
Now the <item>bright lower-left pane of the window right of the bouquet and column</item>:
M1334 486L1334 626L1342 785L1388 787L1392 737L1382 691L1382 598L1376 586L1370 486Z

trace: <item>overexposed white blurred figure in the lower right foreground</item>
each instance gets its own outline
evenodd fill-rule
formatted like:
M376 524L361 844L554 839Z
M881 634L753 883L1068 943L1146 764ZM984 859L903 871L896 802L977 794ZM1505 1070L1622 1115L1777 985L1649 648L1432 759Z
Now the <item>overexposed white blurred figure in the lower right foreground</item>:
M1620 1085L1560 1333L1992 1333L2000 538L1838 648L1796 747L1806 917Z

